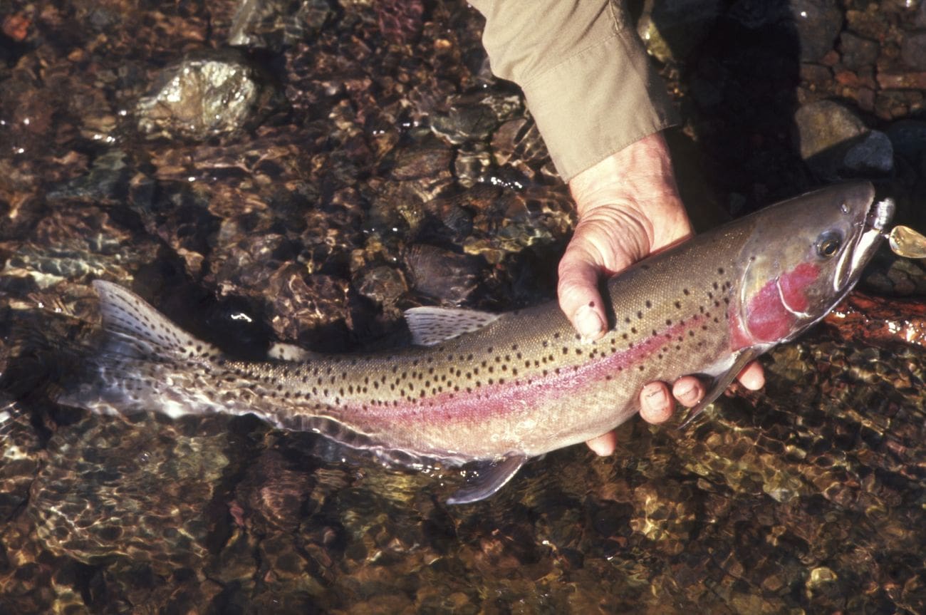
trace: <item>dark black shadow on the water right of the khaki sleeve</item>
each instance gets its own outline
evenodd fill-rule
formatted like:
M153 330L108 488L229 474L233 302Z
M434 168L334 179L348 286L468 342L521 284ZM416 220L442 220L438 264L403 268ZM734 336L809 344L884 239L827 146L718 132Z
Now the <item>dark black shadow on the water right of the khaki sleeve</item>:
M802 50L794 11L808 3L630 4L661 34L664 73L673 85L677 78L685 124L669 132L669 144L698 230L720 221L705 201L739 216L815 183L795 139L800 62L832 49L838 28L820 50Z

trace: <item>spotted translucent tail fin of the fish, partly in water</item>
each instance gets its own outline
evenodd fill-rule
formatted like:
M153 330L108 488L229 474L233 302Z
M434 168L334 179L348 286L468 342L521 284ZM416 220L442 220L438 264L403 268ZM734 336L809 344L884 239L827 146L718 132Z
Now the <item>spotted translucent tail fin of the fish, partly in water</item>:
M207 382L221 352L186 333L144 299L97 280L102 339L85 358L81 383L58 403L104 414L156 410L176 417L217 411L190 383Z

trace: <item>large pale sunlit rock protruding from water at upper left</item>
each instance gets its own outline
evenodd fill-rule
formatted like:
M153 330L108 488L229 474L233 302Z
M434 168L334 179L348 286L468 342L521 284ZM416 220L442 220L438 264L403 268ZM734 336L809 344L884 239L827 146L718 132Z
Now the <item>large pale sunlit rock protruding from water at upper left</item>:
M149 138L205 141L255 125L274 97L244 56L204 51L162 69L135 114L139 132Z

